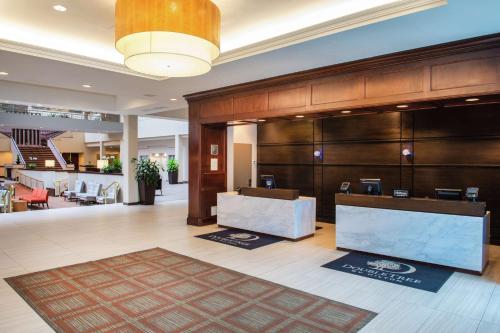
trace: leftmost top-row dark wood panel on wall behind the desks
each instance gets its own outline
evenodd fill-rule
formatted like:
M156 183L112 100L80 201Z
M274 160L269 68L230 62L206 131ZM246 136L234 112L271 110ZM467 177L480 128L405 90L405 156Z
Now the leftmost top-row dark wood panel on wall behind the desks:
M259 144L312 143L313 120L276 121L259 124Z

